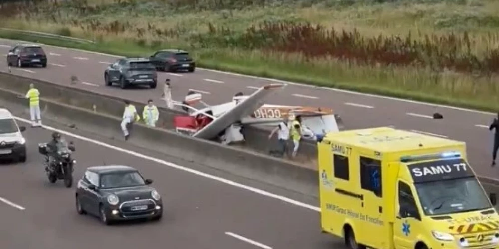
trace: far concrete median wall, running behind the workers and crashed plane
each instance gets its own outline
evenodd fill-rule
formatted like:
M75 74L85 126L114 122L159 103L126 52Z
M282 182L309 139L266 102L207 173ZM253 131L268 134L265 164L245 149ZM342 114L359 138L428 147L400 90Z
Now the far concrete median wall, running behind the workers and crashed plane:
M72 87L70 79L67 85L54 84L51 82L34 80L22 76L12 75L0 72L0 88L11 90L24 95L29 88L29 83L34 83L40 91L41 97L56 101L57 103L76 106L85 110L94 109L102 114L108 114L114 117L121 117L123 114L123 99L100 93L89 92ZM78 84L78 83L76 83ZM131 101L133 105L141 112L144 103ZM173 129L173 117L179 114L185 114L182 111L175 111L166 108L158 108L160 119L158 127L164 129ZM277 147L277 139L274 137L268 140L269 130L256 127L245 129L246 142L242 147L251 151L267 154L270 148ZM317 146L314 142L302 141L298 152L299 161L307 165L313 165L317 158Z

